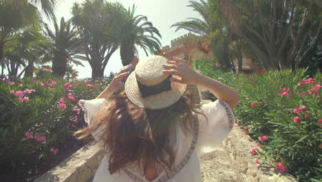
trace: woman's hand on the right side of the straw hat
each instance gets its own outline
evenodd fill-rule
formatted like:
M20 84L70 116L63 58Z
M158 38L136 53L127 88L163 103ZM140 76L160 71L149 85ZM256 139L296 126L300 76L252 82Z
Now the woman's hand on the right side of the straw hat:
M164 74L173 74L180 78L172 77L170 80L173 82L184 83L187 85L197 85L198 79L201 74L193 70L183 59L178 57L172 57L167 61L167 64L163 65L165 70L162 70Z

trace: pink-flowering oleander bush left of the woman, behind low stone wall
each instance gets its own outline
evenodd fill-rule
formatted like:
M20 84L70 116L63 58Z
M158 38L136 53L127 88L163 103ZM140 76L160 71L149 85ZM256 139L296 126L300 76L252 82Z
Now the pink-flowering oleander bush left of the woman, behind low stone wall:
M31 79L0 77L1 173L39 165L59 152L58 146L74 139L84 128L79 99L94 99L111 77L67 82L48 79L46 72Z

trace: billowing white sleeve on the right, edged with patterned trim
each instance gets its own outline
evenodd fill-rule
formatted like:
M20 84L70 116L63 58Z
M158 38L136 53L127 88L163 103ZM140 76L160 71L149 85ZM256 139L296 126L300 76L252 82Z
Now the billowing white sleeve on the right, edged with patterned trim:
M229 105L220 100L202 105L201 110L206 118L197 114L200 126L196 150L198 153L207 153L215 150L228 136L233 129L235 116Z

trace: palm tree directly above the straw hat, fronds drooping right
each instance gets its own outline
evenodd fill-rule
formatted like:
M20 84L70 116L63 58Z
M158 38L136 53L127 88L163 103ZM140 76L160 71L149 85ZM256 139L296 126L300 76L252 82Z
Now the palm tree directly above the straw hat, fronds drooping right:
M122 28L122 41L120 43L120 57L123 65L128 65L133 60L134 54L138 54L135 45L138 45L147 54L147 50L151 54L155 50L160 50L161 43L157 37L161 37L157 28L147 21L147 17L138 15L134 17L136 7L133 5L132 10L127 10L125 22Z

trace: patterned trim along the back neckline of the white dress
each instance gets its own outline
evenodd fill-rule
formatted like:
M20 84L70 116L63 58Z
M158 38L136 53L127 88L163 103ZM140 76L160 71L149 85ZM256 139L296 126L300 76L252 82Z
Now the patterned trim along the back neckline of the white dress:
M197 140L198 140L198 134L199 134L199 121L197 120L197 117L194 117L193 119L193 139L191 142L191 147L188 151L188 153L186 154L186 156L184 156L184 159L182 159L182 161L175 166L175 168L173 168L172 171L167 172L167 174L164 174L163 176L160 177L160 179L158 179L155 182L164 182L164 181L168 181L169 179L171 179L173 176L175 176L176 174L178 174L180 172L180 170L182 170L182 168L184 168L184 165L186 165L186 163L188 163L191 155L193 154L193 150L195 150L195 146L197 145ZM133 174L133 172L130 172L127 169L123 169L125 174L127 174L133 181L135 182L144 182L145 180L140 178L139 176L136 176L136 174Z

